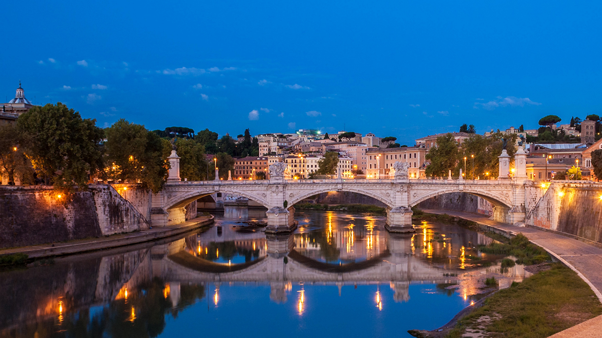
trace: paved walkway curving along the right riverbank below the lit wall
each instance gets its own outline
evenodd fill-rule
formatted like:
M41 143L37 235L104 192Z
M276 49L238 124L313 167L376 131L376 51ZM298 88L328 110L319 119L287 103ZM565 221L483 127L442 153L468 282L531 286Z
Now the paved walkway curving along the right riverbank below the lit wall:
M489 220L489 217L485 215L453 210L422 210L429 214L447 214L453 217L464 218L465 220L474 221L482 226L492 227L512 235L522 233L533 244L544 248L548 253L556 257L556 259L577 272L579 277L589 284L598 296L598 299L602 302L602 248L534 227L518 227L512 224ZM556 333L550 336L550 338L600 337L602 334L600 333L600 325L602 325L602 316L597 316L596 318L589 319L589 321Z

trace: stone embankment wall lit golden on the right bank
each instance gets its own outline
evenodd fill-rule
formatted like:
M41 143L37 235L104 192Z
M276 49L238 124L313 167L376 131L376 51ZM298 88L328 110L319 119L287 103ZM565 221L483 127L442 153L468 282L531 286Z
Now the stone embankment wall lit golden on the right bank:
M531 194L536 203L525 224L602 243L602 184L550 183L533 189L540 191Z

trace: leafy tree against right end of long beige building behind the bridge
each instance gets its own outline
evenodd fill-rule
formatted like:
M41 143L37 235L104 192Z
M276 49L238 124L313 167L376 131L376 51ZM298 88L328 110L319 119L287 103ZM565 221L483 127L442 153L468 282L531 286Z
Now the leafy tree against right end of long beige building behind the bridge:
M426 166L426 176L447 177L448 170L454 170L458 162L458 144L451 133L437 138L436 147L426 155L430 164Z

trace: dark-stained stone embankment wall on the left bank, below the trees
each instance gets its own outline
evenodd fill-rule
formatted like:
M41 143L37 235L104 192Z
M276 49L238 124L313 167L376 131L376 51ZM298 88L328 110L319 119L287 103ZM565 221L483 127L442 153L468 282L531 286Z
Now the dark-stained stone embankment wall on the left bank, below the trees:
M132 200L146 212L143 201ZM91 185L88 191L61 198L49 186L1 186L0 248L148 229L143 212L108 185Z

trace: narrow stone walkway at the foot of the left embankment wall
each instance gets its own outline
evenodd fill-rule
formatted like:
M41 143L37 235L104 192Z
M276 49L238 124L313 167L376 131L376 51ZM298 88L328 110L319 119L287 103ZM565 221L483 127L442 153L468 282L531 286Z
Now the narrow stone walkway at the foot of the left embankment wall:
M205 226L206 224L211 224L213 223L213 219L213 215L200 216L173 226L153 227L148 230L120 233L99 238L73 239L72 241L67 242L4 249L0 250L0 256L5 254L24 253L27 254L29 258L42 258L122 247L123 245L154 241L155 239L179 235ZM52 245L54 245L54 247Z

